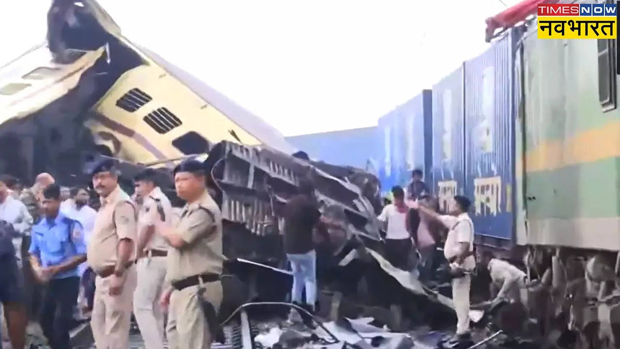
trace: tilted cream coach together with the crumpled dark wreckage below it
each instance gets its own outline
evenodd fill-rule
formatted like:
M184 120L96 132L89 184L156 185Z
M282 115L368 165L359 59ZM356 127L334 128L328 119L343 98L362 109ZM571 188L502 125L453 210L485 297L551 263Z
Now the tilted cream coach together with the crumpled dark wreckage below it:
M130 42L97 2L69 5L72 24L50 24L62 27L55 39L68 47L63 59L56 59L58 52L51 48L59 45L41 43L0 67L0 171L24 183L45 171L58 183L73 186L90 181L82 165L107 156L119 161L121 185L130 193L139 169L159 168L161 185L176 202L170 169L184 158L200 158L224 215L224 250L232 262L227 268L243 268L229 271L247 277L224 285L237 305L257 295L282 301L290 291L290 272L283 270L281 207L304 176L314 182L321 209L344 221L346 238L360 238L374 257L376 272L368 271L368 264L356 268L353 292L358 279L381 278L386 268L387 274L394 271L382 257L375 176L291 156L296 149L277 130L187 71ZM347 242L327 243L330 255L343 247L345 267L360 260ZM330 266L341 261L330 258ZM345 273L345 279L349 276ZM374 289L366 294L389 299L384 293L390 281L389 276L387 281L366 281L366 289ZM396 291L405 286L407 292L428 297L409 280L395 286ZM449 301L441 302L449 308Z

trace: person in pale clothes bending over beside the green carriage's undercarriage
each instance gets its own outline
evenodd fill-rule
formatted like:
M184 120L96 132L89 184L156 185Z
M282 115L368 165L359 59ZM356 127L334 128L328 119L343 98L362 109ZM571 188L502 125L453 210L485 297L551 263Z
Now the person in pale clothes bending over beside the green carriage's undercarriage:
M526 274L507 261L495 258L490 251L482 253L481 262L482 267L489 268L491 281L495 286L495 292L497 292L492 302L500 299L521 302L521 290L526 288Z

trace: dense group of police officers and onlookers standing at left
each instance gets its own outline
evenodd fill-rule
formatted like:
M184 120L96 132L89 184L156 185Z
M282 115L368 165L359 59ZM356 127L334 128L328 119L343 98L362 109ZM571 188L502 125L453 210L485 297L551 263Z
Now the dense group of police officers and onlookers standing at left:
M97 201L87 186L61 188L47 173L27 189L0 178L2 335L12 348L25 347L29 321L52 349L71 348L69 330L90 317L97 348L126 349L132 314L147 349L166 340L169 348L210 348L224 257L203 165L186 160L174 169L184 207L172 207L153 170L135 177L133 197L118 174L113 160L94 166Z

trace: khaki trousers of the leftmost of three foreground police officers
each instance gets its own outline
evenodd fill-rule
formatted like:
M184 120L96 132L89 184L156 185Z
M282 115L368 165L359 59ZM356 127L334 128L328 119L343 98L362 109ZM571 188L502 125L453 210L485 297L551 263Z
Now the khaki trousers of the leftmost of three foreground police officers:
M110 296L110 279L97 276L91 329L97 349L127 349L131 322L131 304L136 289L136 268L125 271L123 291Z

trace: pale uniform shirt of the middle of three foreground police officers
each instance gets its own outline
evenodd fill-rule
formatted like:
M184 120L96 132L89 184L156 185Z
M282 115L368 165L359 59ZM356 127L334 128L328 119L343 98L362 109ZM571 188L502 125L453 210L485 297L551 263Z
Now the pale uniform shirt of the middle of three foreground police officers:
M162 193L159 187L155 187L149 195L144 198L144 202L142 207L140 207L140 211L138 212L138 233L141 234L144 231L144 227L148 225L155 225L155 223L160 220L159 212L157 211L157 202L156 199L159 200L159 203L164 208L164 215L166 216L166 222L172 222L172 205L170 204L170 200L164 193ZM155 228L157 230L157 227ZM146 243L144 247L145 250L162 250L167 251L170 245L166 242L166 240L159 234L159 232L155 232L151 235L151 240Z

